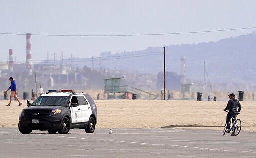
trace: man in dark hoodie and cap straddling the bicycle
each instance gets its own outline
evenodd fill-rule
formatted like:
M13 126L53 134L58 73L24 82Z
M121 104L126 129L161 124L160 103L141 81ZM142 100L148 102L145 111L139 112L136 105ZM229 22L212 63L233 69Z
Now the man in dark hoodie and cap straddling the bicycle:
M240 102L236 98L234 98L235 97L234 93L231 93L228 96L229 96L229 101L227 102L227 106L224 109L224 111L228 110L228 113L226 115L226 124L228 129L226 131L227 133L231 131L230 123L229 123L230 119L232 117L235 118L236 115L239 114L242 109ZM239 107L238 111L237 111L237 106Z

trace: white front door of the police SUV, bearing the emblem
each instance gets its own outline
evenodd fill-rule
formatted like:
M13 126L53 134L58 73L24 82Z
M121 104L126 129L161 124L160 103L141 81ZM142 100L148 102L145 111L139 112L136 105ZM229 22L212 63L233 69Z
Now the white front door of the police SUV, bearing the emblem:
M77 124L82 122L82 115L81 115L81 108L79 107L78 98L76 96L71 97L71 104L77 103L78 106L70 107L71 110L71 117L72 117L72 124Z

